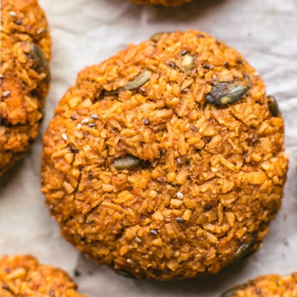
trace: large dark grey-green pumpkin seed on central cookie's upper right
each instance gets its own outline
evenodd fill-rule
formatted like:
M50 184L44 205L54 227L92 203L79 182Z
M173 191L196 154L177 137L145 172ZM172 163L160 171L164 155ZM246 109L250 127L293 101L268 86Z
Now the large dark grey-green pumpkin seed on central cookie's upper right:
M236 82L219 82L212 87L211 92L206 95L206 99L215 106L234 104L243 99L249 88L247 85L243 86Z

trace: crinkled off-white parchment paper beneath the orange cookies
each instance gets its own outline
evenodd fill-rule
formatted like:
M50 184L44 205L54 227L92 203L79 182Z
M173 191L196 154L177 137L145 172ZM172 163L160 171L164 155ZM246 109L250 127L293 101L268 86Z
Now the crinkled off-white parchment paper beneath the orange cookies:
M59 233L40 194L41 139L1 181L0 255L32 253L69 272L88 297L216 297L259 274L297 270L297 0L196 0L178 8L127 0L40 0L53 41L42 133L76 74L155 32L198 29L225 41L264 78L286 122L290 168L280 213L264 247L220 274L176 282L133 280L86 261ZM74 276L74 270L80 276Z

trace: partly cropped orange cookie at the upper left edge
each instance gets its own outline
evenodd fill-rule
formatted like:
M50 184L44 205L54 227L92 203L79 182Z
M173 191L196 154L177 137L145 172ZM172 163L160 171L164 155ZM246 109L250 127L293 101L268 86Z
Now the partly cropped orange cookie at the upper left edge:
M36 0L1 1L0 175L38 136L49 89L50 44Z

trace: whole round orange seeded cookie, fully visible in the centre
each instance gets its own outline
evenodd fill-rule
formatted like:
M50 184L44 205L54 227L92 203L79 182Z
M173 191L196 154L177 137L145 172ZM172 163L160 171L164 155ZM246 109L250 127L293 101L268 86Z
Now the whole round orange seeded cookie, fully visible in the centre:
M260 247L281 206L284 122L259 74L197 31L85 68L44 138L62 235L119 273L215 274Z

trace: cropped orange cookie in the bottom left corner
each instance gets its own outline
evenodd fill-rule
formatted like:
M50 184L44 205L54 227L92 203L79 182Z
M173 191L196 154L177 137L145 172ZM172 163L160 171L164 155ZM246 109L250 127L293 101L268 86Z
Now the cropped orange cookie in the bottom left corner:
M0 296L85 297L61 269L42 265L31 255L0 259Z

